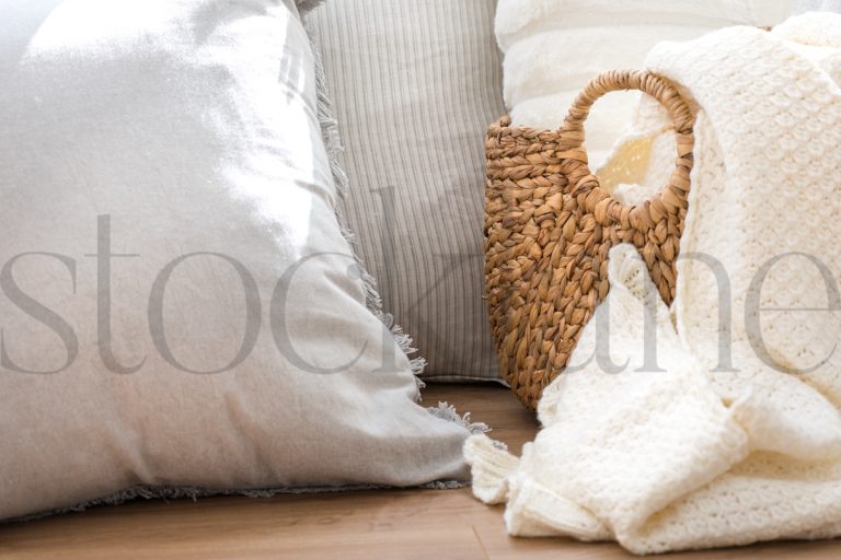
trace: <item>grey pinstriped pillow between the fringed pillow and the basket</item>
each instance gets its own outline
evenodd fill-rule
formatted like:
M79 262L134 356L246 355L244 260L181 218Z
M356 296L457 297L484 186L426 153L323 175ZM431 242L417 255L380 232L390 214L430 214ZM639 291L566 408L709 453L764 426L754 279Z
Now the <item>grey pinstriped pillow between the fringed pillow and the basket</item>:
M484 133L505 113L494 0L333 0L309 15L345 147L343 201L425 378L496 380L482 300Z

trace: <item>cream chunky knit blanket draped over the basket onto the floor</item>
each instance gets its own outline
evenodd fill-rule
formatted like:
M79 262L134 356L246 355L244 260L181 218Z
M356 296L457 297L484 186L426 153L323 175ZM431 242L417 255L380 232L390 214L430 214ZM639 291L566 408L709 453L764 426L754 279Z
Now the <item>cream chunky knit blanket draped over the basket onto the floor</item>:
M698 113L672 308L614 247L534 442L468 441L474 494L507 503L511 535L635 553L839 536L841 15L661 44L646 66ZM663 118L643 103L614 160L664 173Z

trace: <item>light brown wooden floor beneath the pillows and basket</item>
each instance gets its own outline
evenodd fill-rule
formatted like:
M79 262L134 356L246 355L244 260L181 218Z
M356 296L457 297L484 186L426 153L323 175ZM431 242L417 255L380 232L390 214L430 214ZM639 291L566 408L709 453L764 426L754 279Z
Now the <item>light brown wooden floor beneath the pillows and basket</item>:
M431 385L429 406L448 400L494 428L519 453L537 431L533 417L507 389ZM841 541L777 542L693 552L692 560L839 559ZM560 538L515 539L503 508L460 490L365 491L135 501L83 513L0 526L0 558L21 559L617 559L614 545Z

